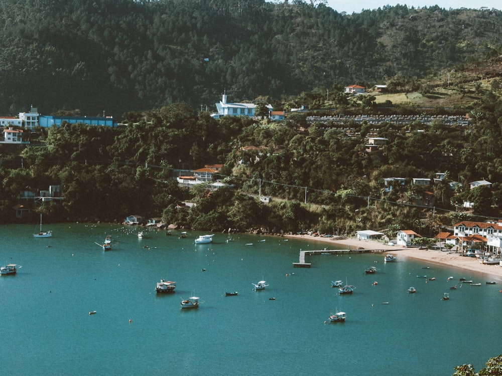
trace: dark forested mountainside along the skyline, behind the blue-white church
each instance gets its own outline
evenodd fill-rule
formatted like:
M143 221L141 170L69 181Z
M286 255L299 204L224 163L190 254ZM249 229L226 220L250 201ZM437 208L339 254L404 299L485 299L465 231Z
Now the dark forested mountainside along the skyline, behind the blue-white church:
M0 114L88 116L183 102L214 111L336 85L392 84L498 56L497 10L385 6L347 15L293 0L3 0ZM482 73L481 73L482 74Z

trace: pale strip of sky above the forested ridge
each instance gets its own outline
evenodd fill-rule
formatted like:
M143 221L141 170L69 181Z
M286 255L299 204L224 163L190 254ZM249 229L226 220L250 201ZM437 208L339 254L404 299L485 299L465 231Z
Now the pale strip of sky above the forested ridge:
M473 2L472 0L327 0L327 5L333 8L338 13L346 12L348 14L360 13L362 10L372 10L383 8L386 5L396 6L396 5L406 5L408 8L424 8L439 6L440 8L448 9L459 9L459 8L471 8L480 9L486 7L488 9L502 9L502 2L500 0L478 0Z

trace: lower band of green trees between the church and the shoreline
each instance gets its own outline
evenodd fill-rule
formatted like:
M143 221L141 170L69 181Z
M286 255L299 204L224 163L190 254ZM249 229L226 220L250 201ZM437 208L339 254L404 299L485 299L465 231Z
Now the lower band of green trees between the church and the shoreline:
M198 230L352 234L407 228L432 237L462 219L500 218L500 94L500 85L491 85L473 104L469 125L447 125L442 117L427 125L313 124L308 113L282 122L215 120L172 104L137 118L129 113L128 123L116 128L65 123L38 129L29 146L0 144L2 220L29 221L15 218L17 204L30 205L20 192L57 184L63 200L32 207L32 221L39 212L45 222L121 222L139 214ZM387 138L387 145L366 152L370 133ZM233 187L188 189L173 178L178 169L217 162L224 164L220 178ZM411 184L413 177L433 179L436 172L445 176L433 186ZM407 184L385 192L385 177L403 177ZM469 190L480 179L492 186ZM452 181L460 185L450 189ZM274 199L265 205L259 193ZM183 201L197 206L180 209ZM459 209L464 202L474 209Z

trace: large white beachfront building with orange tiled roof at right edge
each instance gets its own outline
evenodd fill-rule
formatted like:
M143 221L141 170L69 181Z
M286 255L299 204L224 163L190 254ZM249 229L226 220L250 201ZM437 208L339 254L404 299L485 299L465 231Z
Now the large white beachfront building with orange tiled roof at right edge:
M453 236L462 249L476 248L496 255L502 251L502 222L462 221L454 225ZM458 243L457 243L458 245Z

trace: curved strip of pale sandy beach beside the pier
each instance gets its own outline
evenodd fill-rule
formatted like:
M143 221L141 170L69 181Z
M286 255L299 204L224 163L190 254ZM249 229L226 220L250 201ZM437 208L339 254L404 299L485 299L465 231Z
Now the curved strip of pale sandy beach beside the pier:
M440 264L451 268L463 269L472 273L482 273L486 280L493 280L497 283L502 283L502 267L498 265L480 264L475 257L462 257L460 253L454 251L439 251L439 250L421 250L418 248L402 248L400 246L390 246L388 244L370 241L359 240L356 238L321 238L311 235L285 235L288 238L305 239L311 242L319 242L319 249L329 249L329 244L337 247L347 246L350 249L373 249L385 250L386 252L395 255L398 260L400 257L411 257L417 260L424 261L427 264ZM425 265L425 264L424 264ZM469 276L466 274L466 276Z

